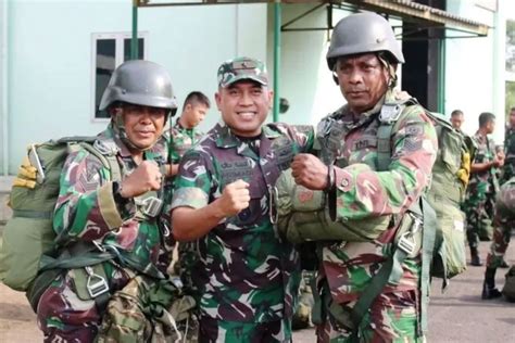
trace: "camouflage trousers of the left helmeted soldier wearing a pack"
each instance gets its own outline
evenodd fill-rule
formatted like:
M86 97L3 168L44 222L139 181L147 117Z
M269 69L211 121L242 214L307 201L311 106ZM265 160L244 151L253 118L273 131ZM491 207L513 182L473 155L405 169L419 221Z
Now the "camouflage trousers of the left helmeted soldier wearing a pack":
M93 342L97 338L105 308L99 308L95 300L77 289L75 270L59 276L39 300L37 320L45 342ZM104 270L111 292L123 289L130 280L124 269Z

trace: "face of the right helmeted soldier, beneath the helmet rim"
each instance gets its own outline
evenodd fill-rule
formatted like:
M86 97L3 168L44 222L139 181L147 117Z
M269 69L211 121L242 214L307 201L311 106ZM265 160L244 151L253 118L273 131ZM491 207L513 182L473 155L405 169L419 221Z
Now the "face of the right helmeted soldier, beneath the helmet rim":
M353 112L374 107L388 90L390 78L374 53L340 58L336 65L340 90Z

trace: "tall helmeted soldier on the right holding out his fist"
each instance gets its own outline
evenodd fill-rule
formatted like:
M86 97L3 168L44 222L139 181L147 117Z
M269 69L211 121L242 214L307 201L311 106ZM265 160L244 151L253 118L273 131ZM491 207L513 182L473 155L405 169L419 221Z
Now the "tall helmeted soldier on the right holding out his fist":
M319 242L317 339L415 342L422 340L418 250L402 263L399 282L387 283L362 318L351 317L360 297L367 297L363 292L373 276L390 259L399 224L410 217L406 211L429 185L438 147L436 131L420 105L401 106L390 140L391 162L386 170L376 172L379 114L386 102L398 102L395 69L404 62L393 31L381 16L360 13L341 20L335 27L327 62L348 104L318 125L325 163L299 154L291 165L292 176L298 185L325 190L329 213L337 220L387 220L374 241Z

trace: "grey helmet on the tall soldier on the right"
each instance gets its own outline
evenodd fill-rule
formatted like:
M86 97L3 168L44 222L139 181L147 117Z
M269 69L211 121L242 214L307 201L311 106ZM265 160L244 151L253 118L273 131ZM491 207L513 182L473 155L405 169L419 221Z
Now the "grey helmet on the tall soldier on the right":
M351 14L338 22L332 31L327 65L332 71L339 56L379 51L386 51L390 62L404 63L387 20L370 12Z

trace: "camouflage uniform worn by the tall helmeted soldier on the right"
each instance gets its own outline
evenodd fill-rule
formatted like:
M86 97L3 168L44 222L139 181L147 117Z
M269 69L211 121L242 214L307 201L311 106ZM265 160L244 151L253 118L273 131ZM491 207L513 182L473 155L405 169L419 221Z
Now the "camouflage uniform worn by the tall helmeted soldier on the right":
M386 101L394 101L388 92ZM390 226L374 242L322 242L318 277L322 323L318 342L352 342L350 314L372 277L391 255L395 231L406 209L429 185L438 141L431 120L419 105L405 106L395 122L388 170L378 166L378 114L385 99L354 115L346 106L318 125L322 156L335 165L337 219L391 216ZM329 196L330 199L330 196ZM420 254L402 263L398 284L387 283L357 330L360 342L414 342L419 338ZM335 312L340 315L337 315ZM347 318L348 320L342 320Z

